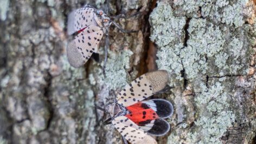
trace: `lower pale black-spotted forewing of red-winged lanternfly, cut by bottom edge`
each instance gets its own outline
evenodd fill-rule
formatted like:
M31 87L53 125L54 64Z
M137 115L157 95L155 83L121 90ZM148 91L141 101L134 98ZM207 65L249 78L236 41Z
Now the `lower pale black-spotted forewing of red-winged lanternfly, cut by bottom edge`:
M118 116L112 120L112 124L130 143L147 143L156 144L156 140L150 135L146 134L134 122L129 120L126 116Z

